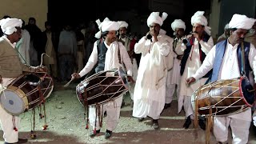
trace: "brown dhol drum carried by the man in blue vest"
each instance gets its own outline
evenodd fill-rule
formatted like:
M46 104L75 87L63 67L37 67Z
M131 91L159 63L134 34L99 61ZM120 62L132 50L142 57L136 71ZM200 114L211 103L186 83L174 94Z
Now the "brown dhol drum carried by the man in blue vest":
M202 116L236 114L253 106L254 87L246 77L218 80L195 90L191 102Z

